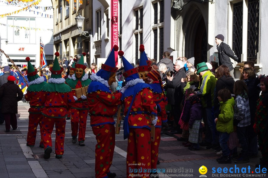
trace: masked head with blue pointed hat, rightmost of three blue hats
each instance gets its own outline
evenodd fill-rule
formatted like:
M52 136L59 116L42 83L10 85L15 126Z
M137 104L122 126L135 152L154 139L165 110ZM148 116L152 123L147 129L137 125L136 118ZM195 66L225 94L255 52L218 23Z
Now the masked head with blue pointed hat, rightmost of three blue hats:
M140 45L140 52L141 52L141 58L138 66L139 71L138 74L140 76L140 79L143 79L145 83L149 83L147 74L149 73L149 71L151 71L152 66L149 65L151 64L151 61L148 60L146 53L144 51L144 46L142 44Z

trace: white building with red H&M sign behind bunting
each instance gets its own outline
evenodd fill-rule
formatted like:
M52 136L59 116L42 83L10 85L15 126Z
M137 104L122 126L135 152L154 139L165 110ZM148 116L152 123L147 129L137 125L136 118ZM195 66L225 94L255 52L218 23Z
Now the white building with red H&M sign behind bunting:
M36 4L34 4L36 3ZM40 39L47 63L53 60L53 8L51 1L3 3L0 18L0 48L18 67L27 65L30 57L35 67L40 65ZM12 65L4 54L0 66Z

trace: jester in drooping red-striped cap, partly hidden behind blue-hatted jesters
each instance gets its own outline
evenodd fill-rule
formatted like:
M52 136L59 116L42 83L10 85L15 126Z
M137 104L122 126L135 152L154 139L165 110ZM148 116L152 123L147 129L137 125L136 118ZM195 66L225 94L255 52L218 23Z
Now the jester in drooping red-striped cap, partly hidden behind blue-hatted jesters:
M142 59L141 59L142 60ZM164 94L163 83L158 71L150 71L148 74L149 85L152 87L153 98L157 106L157 123L155 125L155 141L151 142L151 168L156 169L158 161L158 147L161 139L161 125L162 122L167 122L166 105L167 98ZM152 177L158 177L158 173L152 173Z

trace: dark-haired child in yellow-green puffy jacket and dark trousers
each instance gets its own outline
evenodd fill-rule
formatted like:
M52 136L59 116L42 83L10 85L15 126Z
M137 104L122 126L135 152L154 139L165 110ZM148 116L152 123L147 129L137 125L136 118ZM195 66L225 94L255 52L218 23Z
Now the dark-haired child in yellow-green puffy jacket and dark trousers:
M234 99L231 97L231 92L228 89L221 89L218 92L218 99L220 102L220 114L215 119L216 129L220 133L219 143L222 148L222 157L216 160L220 164L231 163L230 151L227 141L229 140L230 133L233 132L233 106Z

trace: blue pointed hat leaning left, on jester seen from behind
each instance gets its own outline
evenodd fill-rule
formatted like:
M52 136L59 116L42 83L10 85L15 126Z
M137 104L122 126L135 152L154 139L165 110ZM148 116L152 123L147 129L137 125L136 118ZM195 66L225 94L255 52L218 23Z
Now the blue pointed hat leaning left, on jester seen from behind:
M123 65L124 65L124 74L123 76L126 78L126 82L130 81L130 80L133 80L133 79L139 79L139 75L137 74L138 73L138 68L134 68L127 60L126 58L123 56L124 55L124 52L123 51L118 51L118 55L121 56L122 58L122 62L123 62Z

